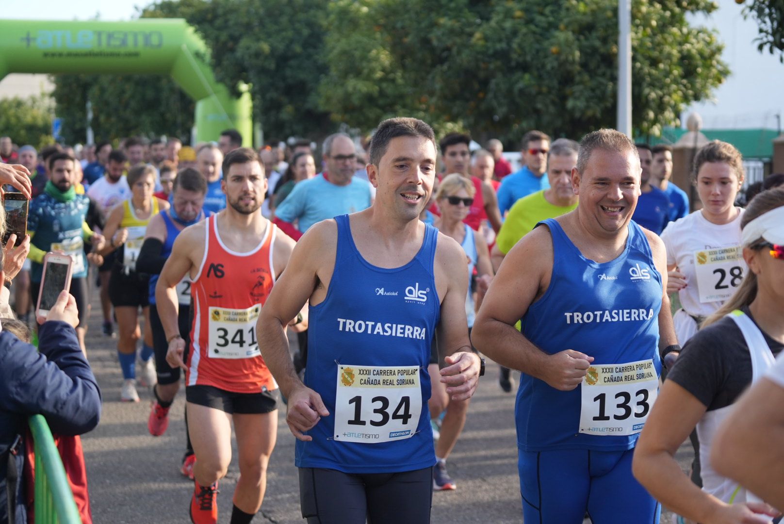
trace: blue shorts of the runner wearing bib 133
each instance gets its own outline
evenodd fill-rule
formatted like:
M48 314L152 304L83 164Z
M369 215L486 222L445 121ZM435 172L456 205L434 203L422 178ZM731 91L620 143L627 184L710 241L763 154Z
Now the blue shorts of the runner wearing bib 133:
M632 475L627 451L517 450L525 524L658 524L661 506Z

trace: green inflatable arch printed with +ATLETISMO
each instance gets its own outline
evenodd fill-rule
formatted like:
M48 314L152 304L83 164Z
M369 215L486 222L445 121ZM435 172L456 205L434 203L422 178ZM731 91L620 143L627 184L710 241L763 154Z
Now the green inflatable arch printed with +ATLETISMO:
M9 73L172 75L196 100L196 140L238 129L252 138L247 86L234 98L202 56L207 46L183 19L132 22L0 20L0 79Z

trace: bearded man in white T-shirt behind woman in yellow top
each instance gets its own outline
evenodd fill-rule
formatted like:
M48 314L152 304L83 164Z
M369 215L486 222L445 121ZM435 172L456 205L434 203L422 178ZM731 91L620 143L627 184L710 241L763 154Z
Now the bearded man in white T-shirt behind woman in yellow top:
M107 155L107 169L103 176L90 184L87 196L96 203L100 212L101 222L106 220L114 206L129 198L131 189L125 180L125 164L128 157L122 151L111 151ZM103 257L103 265L98 268L98 282L100 283L100 305L103 311L103 334L111 337L114 333L114 324L111 316L111 300L109 299L109 277L114 266L116 253L109 253Z

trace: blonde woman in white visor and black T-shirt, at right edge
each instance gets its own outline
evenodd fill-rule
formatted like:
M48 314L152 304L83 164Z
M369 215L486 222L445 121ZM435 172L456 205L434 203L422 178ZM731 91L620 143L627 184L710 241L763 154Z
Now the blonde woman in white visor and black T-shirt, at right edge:
M749 271L735 293L685 344L662 384L634 453L633 471L641 484L667 508L702 524L764 524L778 514L737 482L719 475L710 463L721 421L784 348L784 252L766 240L784 233L784 190L757 195L741 227L742 256ZM674 458L695 428L702 490Z

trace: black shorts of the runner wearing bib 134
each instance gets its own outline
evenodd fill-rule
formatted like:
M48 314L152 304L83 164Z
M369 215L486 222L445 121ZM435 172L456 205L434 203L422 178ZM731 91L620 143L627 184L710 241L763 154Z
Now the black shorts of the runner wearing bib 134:
M299 468L307 524L428 524L433 468L401 473L343 473Z

